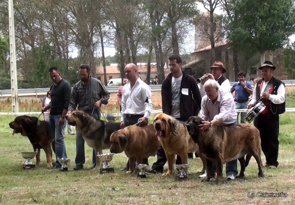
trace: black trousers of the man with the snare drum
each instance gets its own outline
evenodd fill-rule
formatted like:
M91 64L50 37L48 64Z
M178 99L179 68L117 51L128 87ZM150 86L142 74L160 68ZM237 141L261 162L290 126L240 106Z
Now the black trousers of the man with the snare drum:
M261 148L268 166L279 165L279 115L259 115L254 119L254 126L260 132Z

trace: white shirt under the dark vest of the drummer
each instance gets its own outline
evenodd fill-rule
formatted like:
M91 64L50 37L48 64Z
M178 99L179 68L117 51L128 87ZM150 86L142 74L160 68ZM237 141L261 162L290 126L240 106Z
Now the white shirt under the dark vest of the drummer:
M269 83L269 81L263 83L262 88L261 88L261 90L262 90L261 92L267 91L265 89L266 89L266 86L268 83ZM252 105L255 105L257 102L256 87L257 87L257 84L255 85L255 87L253 89L252 100L249 103ZM268 100L270 100L273 104L282 104L283 102L285 102L285 91L286 91L285 86L283 84L281 84L278 88L277 94L276 95L269 94Z

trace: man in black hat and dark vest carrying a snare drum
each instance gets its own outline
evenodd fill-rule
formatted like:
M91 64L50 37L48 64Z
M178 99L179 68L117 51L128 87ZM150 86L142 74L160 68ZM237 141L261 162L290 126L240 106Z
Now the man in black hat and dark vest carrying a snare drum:
M255 106L258 101L266 106L254 119L254 126L259 129L261 148L266 156L264 167L276 169L279 165L279 114L285 112L285 85L273 77L275 66L272 62L265 61L259 69L263 78L256 83L247 108Z

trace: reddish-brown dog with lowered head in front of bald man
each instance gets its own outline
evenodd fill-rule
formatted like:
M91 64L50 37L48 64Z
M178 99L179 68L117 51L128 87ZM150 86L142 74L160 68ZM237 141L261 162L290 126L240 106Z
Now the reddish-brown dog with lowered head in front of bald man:
M130 125L113 132L110 143L110 151L112 153L124 151L129 158L129 171L127 171L127 174L133 173L135 158L137 163L141 164L143 158L155 156L158 147L161 145L155 135L155 129L152 124L144 127Z

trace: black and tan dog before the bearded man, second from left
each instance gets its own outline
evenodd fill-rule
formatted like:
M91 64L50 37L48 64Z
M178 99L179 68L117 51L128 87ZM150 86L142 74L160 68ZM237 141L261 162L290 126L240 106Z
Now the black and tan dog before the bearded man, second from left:
M76 126L76 130L82 133L88 146L97 153L102 154L103 149L110 148L110 136L120 129L120 122L106 122L97 120L84 111L74 111L65 118L69 125ZM96 156L95 169L100 169L101 161Z

